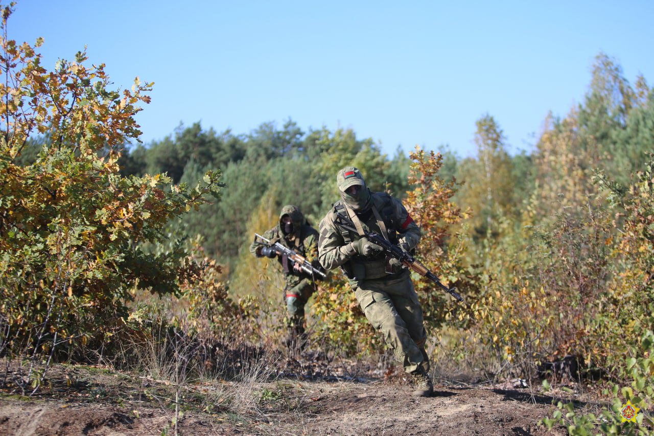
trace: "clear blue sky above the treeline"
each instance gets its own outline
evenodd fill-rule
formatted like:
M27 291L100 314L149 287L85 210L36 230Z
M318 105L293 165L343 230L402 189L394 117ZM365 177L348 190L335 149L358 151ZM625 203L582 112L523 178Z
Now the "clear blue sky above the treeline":
M5 2L6 3L6 2ZM291 118L401 145L475 154L486 113L509 151L582 101L604 52L654 83L654 1L20 0L9 37L52 69L88 46L116 88L154 82L145 143L180 122L247 134Z

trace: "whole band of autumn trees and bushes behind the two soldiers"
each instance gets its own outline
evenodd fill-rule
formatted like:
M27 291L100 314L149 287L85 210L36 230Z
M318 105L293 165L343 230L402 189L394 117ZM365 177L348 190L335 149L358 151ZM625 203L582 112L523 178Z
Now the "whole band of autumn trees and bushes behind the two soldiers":
M317 227L339 198L337 170L354 165L403 199L417 256L465 298L415 278L434 361L531 380L572 356L587 382L653 405L654 90L610 56L596 57L583 101L517 154L490 114L466 158L387 156L351 129L292 120L247 134L198 122L143 145L133 116L152 84L111 90L84 52L47 71L43 41L10 40L3 12L0 354L29 362L25 382L43 380L37 361L106 357L153 322L266 344L281 281L247 246L285 204ZM380 348L339 272L309 323L339 353Z

